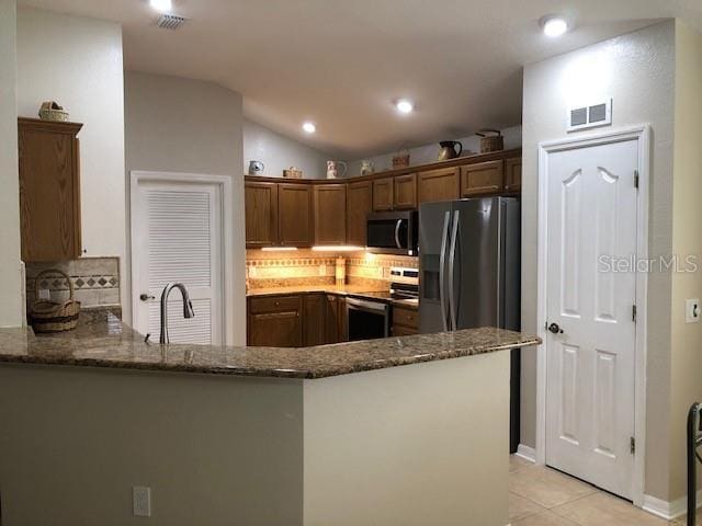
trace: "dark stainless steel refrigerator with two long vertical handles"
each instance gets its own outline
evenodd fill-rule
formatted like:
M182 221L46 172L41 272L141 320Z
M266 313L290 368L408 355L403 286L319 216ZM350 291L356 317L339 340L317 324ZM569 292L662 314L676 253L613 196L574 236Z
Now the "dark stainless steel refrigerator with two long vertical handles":
M521 208L514 197L419 207L419 327L520 330ZM510 451L519 445L520 352L511 357Z

